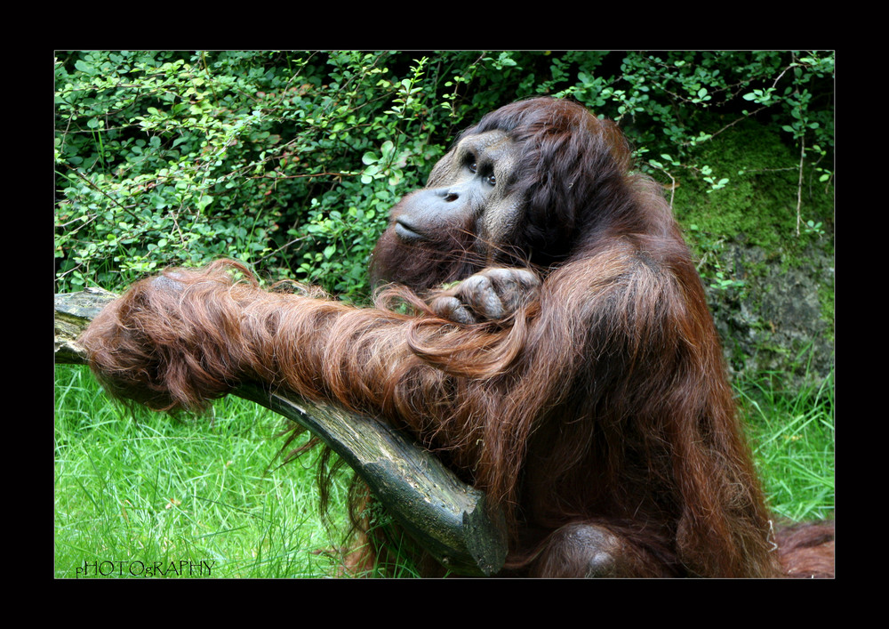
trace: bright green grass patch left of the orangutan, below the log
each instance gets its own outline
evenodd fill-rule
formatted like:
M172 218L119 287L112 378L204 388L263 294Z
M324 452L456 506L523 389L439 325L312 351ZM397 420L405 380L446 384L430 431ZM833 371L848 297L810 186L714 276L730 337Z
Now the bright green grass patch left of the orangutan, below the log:
M276 468L281 417L230 398L208 420L134 418L85 367L57 368L55 401L57 577L92 575L103 561L115 576L130 562L168 576L180 565L190 576L190 563L196 575L202 561L211 577L333 574L317 551L340 544L344 528L318 517L314 453ZM342 503L340 491L333 519Z

